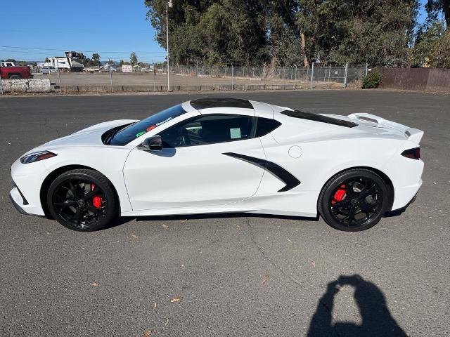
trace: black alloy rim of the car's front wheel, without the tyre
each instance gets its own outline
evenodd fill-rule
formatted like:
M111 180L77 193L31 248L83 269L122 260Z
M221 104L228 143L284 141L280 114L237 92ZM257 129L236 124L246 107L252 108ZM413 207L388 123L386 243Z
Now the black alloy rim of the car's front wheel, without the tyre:
M53 192L53 209L65 223L75 228L87 228L106 216L108 200L94 182L69 178Z

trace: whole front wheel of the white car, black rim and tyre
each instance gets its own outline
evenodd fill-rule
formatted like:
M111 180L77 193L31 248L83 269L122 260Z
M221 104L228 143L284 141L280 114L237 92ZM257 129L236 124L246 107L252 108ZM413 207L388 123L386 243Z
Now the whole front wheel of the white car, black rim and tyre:
M70 228L100 230L117 216L119 203L108 178L94 170L72 170L49 187L47 204L53 218Z

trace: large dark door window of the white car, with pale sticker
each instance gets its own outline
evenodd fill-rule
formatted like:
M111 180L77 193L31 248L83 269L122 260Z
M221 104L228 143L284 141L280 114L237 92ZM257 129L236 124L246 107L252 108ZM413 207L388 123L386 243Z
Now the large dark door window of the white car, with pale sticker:
M209 114L171 126L159 135L163 147L184 147L231 142L253 137L255 117Z

